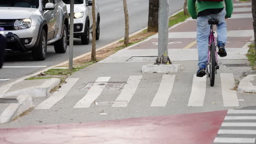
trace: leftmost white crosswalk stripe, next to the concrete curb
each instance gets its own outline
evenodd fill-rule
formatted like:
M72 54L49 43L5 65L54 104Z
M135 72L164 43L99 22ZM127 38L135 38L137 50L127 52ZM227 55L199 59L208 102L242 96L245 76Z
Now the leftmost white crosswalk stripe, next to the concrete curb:
M44 100L40 103L35 109L50 109L54 106L58 101L66 96L68 91L74 86L74 84L78 81L79 78L76 79L67 79L67 83L63 84L59 91L56 91L49 97L48 99Z

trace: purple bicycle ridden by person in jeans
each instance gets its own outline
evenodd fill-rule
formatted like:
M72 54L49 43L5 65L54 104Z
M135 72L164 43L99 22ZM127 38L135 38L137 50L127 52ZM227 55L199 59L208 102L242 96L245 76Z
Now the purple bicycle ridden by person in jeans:
M217 74L218 65L218 53L216 50L216 43L214 37L213 26L219 24L219 20L210 19L208 24L211 25L210 36L209 36L209 45L208 45L208 62L206 67L206 73L210 77L211 86L214 86L215 75Z

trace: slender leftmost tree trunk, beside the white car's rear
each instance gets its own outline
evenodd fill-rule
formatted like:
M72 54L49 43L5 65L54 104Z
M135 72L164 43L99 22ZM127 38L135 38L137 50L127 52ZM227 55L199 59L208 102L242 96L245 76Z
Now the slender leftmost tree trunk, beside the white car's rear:
M92 48L91 61L96 61L96 14L95 14L95 0L92 0Z

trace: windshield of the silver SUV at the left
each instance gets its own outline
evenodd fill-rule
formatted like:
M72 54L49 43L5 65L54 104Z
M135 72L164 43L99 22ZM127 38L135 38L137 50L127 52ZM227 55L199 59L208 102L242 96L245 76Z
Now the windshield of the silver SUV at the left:
M38 8L38 0L7 0L0 1L0 7Z

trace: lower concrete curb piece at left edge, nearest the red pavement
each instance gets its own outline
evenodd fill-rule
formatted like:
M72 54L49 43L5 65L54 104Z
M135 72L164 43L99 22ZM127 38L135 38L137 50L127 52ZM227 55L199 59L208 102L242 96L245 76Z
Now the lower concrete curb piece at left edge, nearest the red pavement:
M29 95L20 95L18 103L10 104L0 115L0 123L8 123L13 118L33 107L32 98Z

